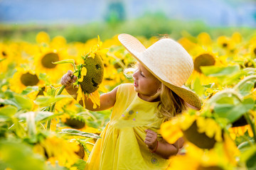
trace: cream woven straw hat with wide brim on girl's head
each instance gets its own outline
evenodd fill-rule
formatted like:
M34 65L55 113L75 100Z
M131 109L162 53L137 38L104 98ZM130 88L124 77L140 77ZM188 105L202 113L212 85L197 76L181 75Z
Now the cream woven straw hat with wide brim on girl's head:
M168 86L186 103L195 108L201 108L198 96L184 86L193 72L193 60L178 42L165 38L146 49L132 35L120 34L118 39L164 85Z

